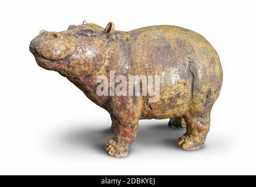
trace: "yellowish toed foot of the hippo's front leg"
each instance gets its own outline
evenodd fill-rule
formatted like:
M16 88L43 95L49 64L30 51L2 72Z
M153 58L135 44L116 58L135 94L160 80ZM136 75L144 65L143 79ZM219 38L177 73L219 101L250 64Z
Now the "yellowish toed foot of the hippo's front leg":
M105 147L107 154L112 155L113 157L126 157L128 155L129 146L127 143L120 140L117 141L110 139Z

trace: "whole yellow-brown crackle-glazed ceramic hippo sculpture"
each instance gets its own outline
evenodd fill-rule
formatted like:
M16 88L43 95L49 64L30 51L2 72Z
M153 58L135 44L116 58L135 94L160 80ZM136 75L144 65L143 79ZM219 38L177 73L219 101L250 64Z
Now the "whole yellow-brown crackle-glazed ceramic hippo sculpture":
M122 32L114 30L112 22L105 29L83 22L70 25L64 32L42 30L29 49L39 66L58 71L110 113L114 136L106 144L108 154L128 154L140 119L170 118L171 127L186 123L186 133L178 138L178 145L196 150L204 144L223 70L217 52L200 34L167 25ZM97 94L97 86L102 84L97 78L103 75L110 79L110 71L124 77L159 76L159 98L151 102L149 93ZM157 94L156 90L151 93L151 97Z

